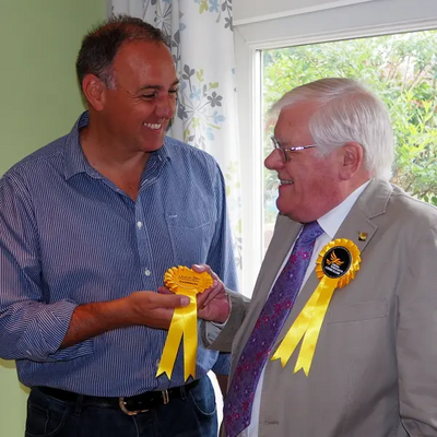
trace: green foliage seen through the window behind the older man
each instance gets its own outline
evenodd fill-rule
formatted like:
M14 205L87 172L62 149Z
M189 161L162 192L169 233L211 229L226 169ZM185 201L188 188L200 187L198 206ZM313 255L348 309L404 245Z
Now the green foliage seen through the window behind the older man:
M364 82L390 111L397 142L392 181L437 205L436 47L437 31L426 31L264 50L264 108L293 87L317 79ZM264 152L270 151L265 141ZM274 179L265 172L267 204ZM271 213L267 211L267 220Z

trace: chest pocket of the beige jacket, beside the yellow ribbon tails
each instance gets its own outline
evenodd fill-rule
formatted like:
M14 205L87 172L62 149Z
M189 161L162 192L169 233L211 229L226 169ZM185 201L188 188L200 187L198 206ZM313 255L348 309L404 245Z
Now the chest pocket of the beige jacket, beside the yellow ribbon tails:
M387 299L332 306L329 309L328 323L345 323L380 319L387 317L388 309Z

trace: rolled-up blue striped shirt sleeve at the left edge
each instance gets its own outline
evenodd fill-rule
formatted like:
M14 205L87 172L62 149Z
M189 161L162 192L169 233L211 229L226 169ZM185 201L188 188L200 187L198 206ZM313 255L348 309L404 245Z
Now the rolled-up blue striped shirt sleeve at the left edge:
M76 305L49 303L45 291L32 199L20 175L7 175L0 180L0 357L54 362L84 347L58 352Z

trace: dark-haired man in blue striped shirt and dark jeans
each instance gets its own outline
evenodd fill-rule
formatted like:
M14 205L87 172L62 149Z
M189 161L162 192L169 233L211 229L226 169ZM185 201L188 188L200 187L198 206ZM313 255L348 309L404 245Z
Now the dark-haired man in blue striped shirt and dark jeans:
M227 355L199 345L186 381L180 349L156 377L187 305L156 293L165 271L208 263L236 286L222 173L165 137L178 79L164 42L126 16L91 32L88 110L0 180L0 356L32 388L26 435L216 436L206 373L226 383Z

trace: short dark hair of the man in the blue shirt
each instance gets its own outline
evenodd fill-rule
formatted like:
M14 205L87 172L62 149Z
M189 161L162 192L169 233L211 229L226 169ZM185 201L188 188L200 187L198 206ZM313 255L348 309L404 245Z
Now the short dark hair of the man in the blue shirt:
M94 74L107 87L115 88L114 58L122 44L135 40L166 44L162 31L128 15L115 15L85 35L75 62L81 90L86 74Z

